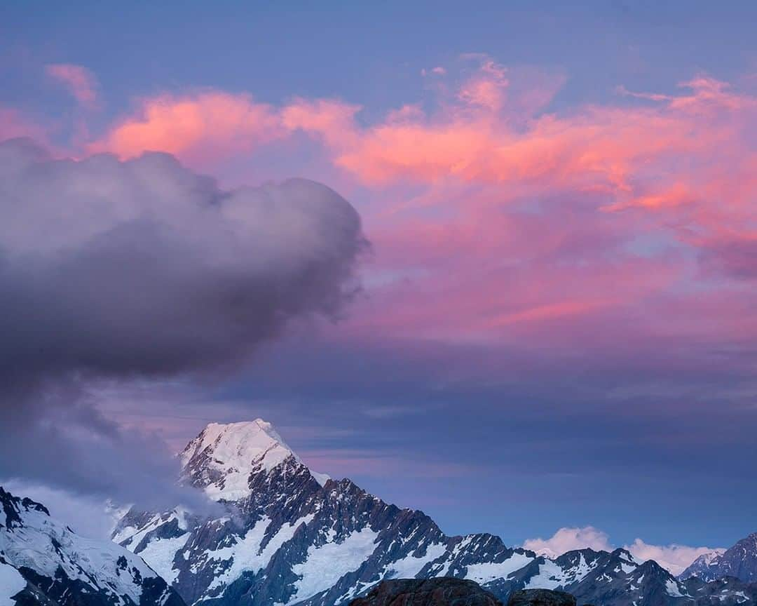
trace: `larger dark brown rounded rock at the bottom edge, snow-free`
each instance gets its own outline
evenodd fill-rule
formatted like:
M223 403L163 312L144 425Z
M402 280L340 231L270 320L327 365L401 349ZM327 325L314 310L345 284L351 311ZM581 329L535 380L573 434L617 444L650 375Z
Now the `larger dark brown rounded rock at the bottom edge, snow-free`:
M443 576L382 581L350 606L502 606L502 602L478 583Z

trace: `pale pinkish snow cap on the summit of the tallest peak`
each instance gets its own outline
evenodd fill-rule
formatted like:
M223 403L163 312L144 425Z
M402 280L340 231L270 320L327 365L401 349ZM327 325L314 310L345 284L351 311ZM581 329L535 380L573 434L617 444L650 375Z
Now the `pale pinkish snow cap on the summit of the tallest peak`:
M210 423L180 454L181 479L201 488L214 501L238 501L250 494L251 476L285 461L304 467L271 423L263 419ZM329 476L311 475L323 485Z

